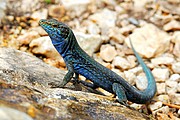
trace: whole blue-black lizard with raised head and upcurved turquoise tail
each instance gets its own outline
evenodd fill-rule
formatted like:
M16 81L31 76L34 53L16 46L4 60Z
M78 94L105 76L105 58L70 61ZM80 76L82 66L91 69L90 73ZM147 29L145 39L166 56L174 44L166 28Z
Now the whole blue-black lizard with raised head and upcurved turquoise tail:
M52 84L52 87L64 87L74 78L74 80L80 81L80 83L90 88L96 89L100 87L115 94L118 102L123 105L127 105L127 101L145 104L155 96L157 91L155 79L150 69L134 49L131 40L131 48L139 64L142 66L148 81L146 89L142 91L130 85L121 76L90 57L79 46L73 31L65 23L59 22L56 19L41 19L39 25L48 33L52 44L63 57L68 69L63 82ZM84 76L92 83L78 80L79 75Z

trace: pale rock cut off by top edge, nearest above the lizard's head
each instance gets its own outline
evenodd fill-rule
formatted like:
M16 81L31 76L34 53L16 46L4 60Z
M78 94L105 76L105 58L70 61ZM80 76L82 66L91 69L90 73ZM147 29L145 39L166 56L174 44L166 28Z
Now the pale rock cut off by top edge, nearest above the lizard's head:
M88 8L90 0L61 0L64 8L68 11L67 15L71 18L80 16Z

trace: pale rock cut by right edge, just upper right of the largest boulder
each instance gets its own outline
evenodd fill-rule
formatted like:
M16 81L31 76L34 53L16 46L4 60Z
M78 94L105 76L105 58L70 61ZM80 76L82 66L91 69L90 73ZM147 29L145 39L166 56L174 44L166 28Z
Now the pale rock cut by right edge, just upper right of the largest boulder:
M171 20L169 23L167 23L163 26L163 29L165 31L180 30L180 22L178 22L176 20Z

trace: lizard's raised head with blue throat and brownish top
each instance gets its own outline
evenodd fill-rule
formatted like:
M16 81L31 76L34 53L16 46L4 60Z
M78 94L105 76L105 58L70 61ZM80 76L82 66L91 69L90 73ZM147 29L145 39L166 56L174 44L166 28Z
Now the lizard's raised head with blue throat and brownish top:
M41 19L39 25L48 33L54 45L66 40L70 33L70 28L66 24L55 19Z

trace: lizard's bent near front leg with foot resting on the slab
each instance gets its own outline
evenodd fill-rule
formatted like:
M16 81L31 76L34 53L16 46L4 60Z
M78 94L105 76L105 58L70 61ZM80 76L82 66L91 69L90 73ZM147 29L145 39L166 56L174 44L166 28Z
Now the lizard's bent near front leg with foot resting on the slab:
M74 68L72 62L69 62L67 65L68 68L68 73L64 76L63 82L62 83L56 83L56 82L51 82L50 85L52 88L58 88L58 87L64 87L73 77L74 75Z

